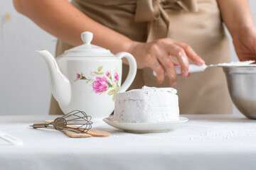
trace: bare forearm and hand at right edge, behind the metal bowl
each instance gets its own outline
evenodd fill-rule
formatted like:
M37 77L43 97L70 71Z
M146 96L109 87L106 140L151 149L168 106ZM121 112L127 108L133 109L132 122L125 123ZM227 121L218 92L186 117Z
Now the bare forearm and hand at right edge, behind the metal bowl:
M227 26L240 61L256 60L256 28L249 1L218 0L221 16Z

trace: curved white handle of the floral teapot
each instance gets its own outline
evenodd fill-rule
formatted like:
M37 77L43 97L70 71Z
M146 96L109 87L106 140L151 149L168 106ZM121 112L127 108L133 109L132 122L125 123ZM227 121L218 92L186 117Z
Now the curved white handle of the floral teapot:
M127 75L127 79L125 79L124 83L120 88L120 92L124 92L129 88L129 86L131 86L132 81L134 81L134 78L137 73L137 63L134 57L128 52L118 52L116 56L119 57L119 59L125 57L129 62L129 72Z

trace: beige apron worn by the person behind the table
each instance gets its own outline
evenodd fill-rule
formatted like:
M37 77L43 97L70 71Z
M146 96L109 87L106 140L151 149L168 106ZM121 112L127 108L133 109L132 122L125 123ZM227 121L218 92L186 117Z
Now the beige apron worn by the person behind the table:
M218 4L215 0L73 0L72 4L93 20L112 28L132 40L150 42L172 38L193 47L206 64L230 62L228 38L225 35ZM58 40L56 56L70 45ZM191 62L191 61L190 61ZM123 77L128 72L123 65ZM156 83L151 69L138 69L129 89L142 86L169 86ZM208 68L190 77L177 77L181 114L228 114L232 105L220 68ZM63 114L52 100L50 114Z

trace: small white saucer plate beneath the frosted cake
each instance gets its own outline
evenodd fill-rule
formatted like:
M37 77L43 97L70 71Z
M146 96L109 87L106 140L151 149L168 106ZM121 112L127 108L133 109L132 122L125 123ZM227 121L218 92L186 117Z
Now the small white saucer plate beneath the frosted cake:
M124 132L147 133L174 130L179 125L186 123L188 118L179 117L179 120L158 123L120 123L112 118L104 118L103 121L114 128L124 130Z

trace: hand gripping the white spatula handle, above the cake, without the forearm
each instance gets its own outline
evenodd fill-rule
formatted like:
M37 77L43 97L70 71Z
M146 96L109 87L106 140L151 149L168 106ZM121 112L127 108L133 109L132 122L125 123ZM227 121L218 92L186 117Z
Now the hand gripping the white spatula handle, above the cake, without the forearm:
M176 72L174 66L181 65L181 76L188 76L188 58L198 65L205 64L193 49L183 42L162 38L152 42L132 42L128 52L134 55L138 69L150 67L156 72L159 84L165 79L165 72L170 84L176 84ZM174 61L171 56L177 58Z

